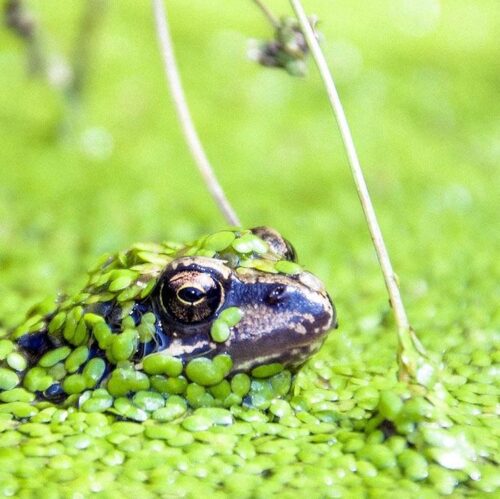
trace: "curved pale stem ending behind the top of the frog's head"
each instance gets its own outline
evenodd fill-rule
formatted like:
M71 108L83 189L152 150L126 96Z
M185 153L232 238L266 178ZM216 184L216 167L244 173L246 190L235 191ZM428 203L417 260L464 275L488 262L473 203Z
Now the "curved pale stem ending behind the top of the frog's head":
M165 74L167 76L177 116L181 124L182 131L184 132L184 137L189 150L191 151L207 189L227 222L230 225L240 226L241 224L239 218L230 205L219 181L217 180L217 177L215 176L214 170L207 158L207 155L205 154L205 150L203 149L203 145L191 118L179 70L177 69L177 63L175 61L174 48L167 20L167 12L163 0L152 0L152 7L158 41L160 44L161 54L163 56Z

